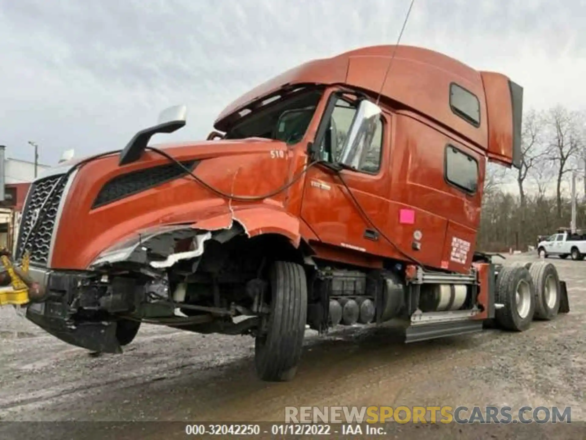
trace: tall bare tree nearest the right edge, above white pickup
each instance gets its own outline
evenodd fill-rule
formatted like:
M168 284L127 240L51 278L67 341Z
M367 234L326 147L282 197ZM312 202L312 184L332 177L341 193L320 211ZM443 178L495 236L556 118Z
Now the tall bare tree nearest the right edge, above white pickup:
M561 182L564 175L570 171L568 165L580 148L577 116L576 113L571 113L561 106L551 109L549 115L551 142L548 157L557 163L556 208L558 219L561 219Z

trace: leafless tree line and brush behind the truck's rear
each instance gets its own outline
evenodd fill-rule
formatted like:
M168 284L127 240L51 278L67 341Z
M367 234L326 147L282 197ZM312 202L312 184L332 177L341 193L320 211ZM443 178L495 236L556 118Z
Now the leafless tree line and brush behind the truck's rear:
M560 106L546 112L527 112L521 170L486 167L479 249L525 249L536 244L538 235L570 225L571 198L563 190L568 172L581 168L586 158L584 121L586 112L580 114ZM518 196L513 195L515 187ZM586 226L586 206L578 205L576 221Z

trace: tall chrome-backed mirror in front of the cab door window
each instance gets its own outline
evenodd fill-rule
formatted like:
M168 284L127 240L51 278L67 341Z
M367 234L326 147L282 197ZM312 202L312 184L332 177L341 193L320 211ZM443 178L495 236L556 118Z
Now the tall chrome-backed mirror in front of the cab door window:
M362 100L342 144L340 163L351 168L358 168L366 145L372 140L377 121L383 113L379 106L369 100Z

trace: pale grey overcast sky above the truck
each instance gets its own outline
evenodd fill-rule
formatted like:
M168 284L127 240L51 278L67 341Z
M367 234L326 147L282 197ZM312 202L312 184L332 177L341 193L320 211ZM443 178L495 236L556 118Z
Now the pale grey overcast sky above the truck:
M163 108L219 111L305 60L396 42L410 0L0 0L0 144L42 163L124 147ZM584 0L415 0L401 43L496 70L525 108L586 104Z

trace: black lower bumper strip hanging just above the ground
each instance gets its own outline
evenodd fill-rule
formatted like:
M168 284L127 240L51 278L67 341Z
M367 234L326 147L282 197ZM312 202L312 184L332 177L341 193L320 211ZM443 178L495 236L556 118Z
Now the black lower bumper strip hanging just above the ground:
M28 320L47 333L71 345L102 353L122 353L116 338L115 322L69 323L62 317L50 316L50 303L31 304L26 310Z

